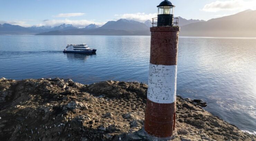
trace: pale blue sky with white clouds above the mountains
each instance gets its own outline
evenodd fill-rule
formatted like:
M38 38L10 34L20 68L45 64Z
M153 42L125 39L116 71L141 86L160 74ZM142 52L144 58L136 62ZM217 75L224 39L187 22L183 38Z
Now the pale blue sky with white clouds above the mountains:
M24 27L56 26L62 23L99 26L118 19L145 22L157 17L163 0L0 0L0 24ZM247 9L256 10L256 0L170 0L175 17L210 20Z

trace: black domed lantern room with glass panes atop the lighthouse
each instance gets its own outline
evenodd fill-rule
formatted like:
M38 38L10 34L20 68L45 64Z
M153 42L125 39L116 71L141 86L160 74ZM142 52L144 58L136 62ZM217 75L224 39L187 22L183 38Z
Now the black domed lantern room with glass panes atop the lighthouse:
M168 1L162 1L158 8L157 26L173 26L174 5Z

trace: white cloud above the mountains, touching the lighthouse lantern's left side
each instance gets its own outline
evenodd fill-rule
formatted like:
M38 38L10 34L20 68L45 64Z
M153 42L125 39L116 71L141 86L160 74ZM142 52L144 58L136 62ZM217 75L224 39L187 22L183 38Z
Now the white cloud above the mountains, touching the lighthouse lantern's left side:
M115 17L118 19L135 20L140 22L145 22L146 20L151 20L157 17L157 13L145 14L145 13L135 13L135 14L116 14Z

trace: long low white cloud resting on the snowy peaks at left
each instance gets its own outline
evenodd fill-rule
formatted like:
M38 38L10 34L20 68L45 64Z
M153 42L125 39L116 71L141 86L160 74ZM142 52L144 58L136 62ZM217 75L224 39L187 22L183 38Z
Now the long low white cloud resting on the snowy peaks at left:
M69 19L65 19L65 20L44 20L43 23L39 24L40 26L42 25L46 25L46 26L57 26L57 25L61 25L63 23L66 24L72 24L76 27L85 27L89 24L97 24L99 26L105 24L106 22L95 22L94 20L69 20ZM38 26L38 25L36 25Z

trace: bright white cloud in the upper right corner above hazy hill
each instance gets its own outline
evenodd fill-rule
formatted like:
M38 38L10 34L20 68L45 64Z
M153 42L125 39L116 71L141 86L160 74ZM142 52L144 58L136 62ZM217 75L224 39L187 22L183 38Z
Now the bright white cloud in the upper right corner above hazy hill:
M235 10L246 10L256 9L255 0L226 0L226 1L215 1L206 4L201 11L206 12L218 12L218 11L235 11Z

